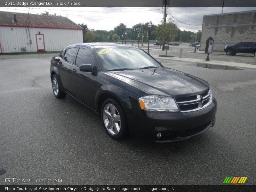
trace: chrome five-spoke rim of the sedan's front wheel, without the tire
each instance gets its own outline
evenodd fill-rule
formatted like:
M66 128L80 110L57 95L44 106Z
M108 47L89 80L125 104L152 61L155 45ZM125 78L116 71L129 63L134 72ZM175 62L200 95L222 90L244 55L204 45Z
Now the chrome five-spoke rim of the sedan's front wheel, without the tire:
M117 135L121 129L121 119L116 107L107 103L103 109L103 120L108 132Z

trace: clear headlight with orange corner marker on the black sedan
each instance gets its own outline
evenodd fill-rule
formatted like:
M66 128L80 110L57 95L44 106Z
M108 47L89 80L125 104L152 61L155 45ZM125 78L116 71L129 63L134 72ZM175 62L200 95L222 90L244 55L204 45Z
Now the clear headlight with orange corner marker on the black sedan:
M146 111L179 111L174 99L156 95L146 95L139 98L140 108Z

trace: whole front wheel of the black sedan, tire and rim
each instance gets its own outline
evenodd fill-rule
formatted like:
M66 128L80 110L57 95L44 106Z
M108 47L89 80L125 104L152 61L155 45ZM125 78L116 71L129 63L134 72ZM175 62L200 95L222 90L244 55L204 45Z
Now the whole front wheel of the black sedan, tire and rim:
M101 117L108 135L116 140L127 135L124 113L119 104L113 99L107 99L101 107Z

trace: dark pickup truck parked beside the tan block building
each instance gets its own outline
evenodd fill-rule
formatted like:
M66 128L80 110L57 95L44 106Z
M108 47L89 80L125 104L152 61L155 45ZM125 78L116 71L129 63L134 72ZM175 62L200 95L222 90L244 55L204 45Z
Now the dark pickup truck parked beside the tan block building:
M256 43L249 42L240 42L235 45L226 45L224 51L226 55L236 55L236 53L253 53L255 56L256 52Z

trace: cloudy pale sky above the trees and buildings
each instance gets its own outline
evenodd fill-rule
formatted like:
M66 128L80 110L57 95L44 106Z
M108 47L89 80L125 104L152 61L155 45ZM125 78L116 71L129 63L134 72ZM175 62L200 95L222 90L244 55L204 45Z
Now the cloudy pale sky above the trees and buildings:
M167 19L172 18L181 30L202 29L203 15L221 13L221 7L168 7ZM256 10L256 7L224 7L223 13ZM75 23L87 24L90 29L114 29L121 22L128 28L140 22L160 24L164 17L162 7L0 7L0 11L66 16ZM174 17L174 18L173 18Z

